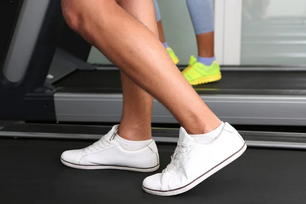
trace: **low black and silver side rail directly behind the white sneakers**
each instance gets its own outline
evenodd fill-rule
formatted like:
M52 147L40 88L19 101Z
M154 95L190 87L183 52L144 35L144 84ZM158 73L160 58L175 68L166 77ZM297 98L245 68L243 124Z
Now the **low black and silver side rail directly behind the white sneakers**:
M5 124L3 126L3 129L0 130L0 138L13 137L98 140L110 129L111 126L35 123L31 124L17 122ZM248 146L306 149L306 133L246 130L239 131L239 133L243 136ZM179 129L152 127L152 136L157 142L176 143L179 136Z

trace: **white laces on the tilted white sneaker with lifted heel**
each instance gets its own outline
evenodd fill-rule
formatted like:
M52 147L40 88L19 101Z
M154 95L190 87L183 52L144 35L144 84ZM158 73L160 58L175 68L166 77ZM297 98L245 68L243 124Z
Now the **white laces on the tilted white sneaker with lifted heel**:
M187 153L187 150L184 147L191 147L191 145L184 142L177 142L177 146L175 148L174 154L171 156L171 162L168 166L163 170L163 173L169 171L173 174L179 168L181 161L184 158L184 155Z

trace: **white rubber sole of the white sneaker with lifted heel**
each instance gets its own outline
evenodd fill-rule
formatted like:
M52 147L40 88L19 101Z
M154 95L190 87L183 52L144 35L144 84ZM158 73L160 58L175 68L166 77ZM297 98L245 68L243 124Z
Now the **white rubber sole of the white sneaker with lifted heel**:
M211 169L210 171L201 175L196 180L194 180L193 182L189 183L188 185L186 185L182 188L169 190L169 191L156 191L156 190L147 189L147 188L142 186L142 189L147 193L150 193L150 194L153 194L153 195L161 195L161 196L171 196L171 195L177 195L177 194L185 193L186 191L189 191L190 189L192 189L193 187L195 187L196 185L198 185L202 181L206 180L209 176L213 175L214 173L216 173L217 171L219 171L220 169L222 169L226 165L230 164L231 162L233 162L234 160L239 158L243 154L243 152L246 150L246 147L247 147L246 144L244 144L243 147L239 151L237 151L234 155L227 158L226 160L224 160L223 162L221 162L220 164L215 166L213 169Z

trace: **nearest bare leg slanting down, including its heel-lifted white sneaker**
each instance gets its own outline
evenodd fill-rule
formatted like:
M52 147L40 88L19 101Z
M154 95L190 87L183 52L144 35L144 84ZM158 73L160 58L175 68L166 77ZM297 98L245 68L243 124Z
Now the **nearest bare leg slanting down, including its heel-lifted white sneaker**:
M144 2L152 5L150 1ZM147 192L160 195L185 192L242 154L246 145L238 132L230 124L221 123L203 103L159 39L140 21L111 0L74 0L73 5L65 0L63 9L72 29L157 98L185 127L181 128L170 165L161 174L144 180ZM172 76L170 80L168 75Z

